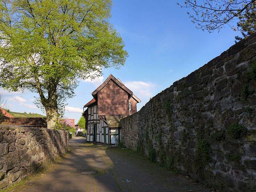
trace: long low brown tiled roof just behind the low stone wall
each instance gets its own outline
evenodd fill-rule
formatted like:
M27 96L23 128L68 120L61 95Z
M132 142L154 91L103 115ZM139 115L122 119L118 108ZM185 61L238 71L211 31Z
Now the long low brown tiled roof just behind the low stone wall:
M2 125L47 125L46 118L44 117L3 117L0 119Z

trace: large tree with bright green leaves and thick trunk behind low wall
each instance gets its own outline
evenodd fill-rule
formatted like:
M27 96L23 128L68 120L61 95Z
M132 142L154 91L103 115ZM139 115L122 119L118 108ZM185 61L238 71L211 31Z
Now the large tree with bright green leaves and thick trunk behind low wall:
M124 65L128 54L109 22L111 0L0 1L0 85L37 92L48 128L79 78Z

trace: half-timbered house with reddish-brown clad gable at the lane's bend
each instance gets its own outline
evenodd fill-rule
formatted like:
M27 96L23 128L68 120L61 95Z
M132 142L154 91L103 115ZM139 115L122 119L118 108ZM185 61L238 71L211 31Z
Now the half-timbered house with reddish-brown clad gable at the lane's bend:
M108 76L94 92L93 99L84 105L87 141L116 145L120 141L120 120L137 112L140 102L131 90L116 79Z

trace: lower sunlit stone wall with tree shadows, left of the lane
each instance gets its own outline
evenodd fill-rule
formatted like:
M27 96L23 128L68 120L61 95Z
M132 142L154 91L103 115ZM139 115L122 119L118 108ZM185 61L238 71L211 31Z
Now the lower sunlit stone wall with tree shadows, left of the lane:
M0 190L68 151L68 131L0 125Z

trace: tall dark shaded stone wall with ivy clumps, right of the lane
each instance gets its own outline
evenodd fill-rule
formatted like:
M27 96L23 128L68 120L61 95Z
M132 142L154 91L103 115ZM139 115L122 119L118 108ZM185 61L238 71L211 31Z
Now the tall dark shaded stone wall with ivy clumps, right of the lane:
M121 120L121 141L223 191L256 190L256 36Z

